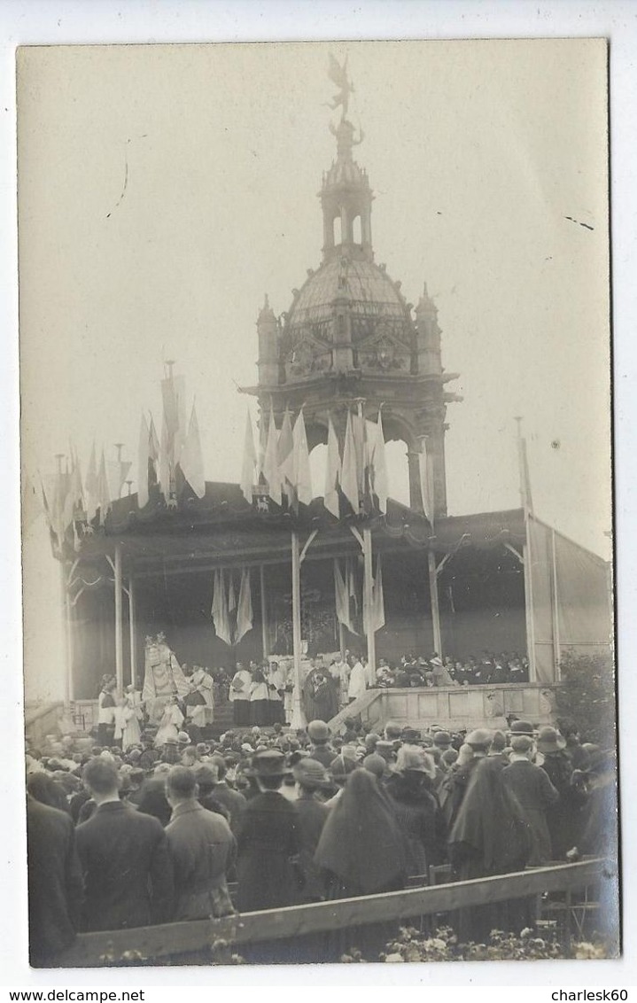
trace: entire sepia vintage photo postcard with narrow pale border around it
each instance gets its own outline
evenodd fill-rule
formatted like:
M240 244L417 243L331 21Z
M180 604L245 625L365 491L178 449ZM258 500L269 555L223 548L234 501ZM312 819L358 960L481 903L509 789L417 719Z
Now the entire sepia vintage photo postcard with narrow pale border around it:
M607 59L18 50L35 968L619 956Z

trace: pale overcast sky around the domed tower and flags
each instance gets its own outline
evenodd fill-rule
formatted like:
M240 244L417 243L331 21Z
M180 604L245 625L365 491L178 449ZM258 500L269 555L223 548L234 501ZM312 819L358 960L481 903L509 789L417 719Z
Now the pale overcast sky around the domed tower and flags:
M18 76L23 463L125 443L163 361L196 398L208 479L237 480L256 319L320 263L348 56L375 260L426 282L449 515L519 504L609 556L606 48L595 40L40 47ZM570 219L569 219L570 218ZM394 472L401 496L405 476ZM134 486L133 486L134 489ZM35 532L35 531L34 531ZM35 537L33 538L35 541ZM42 543L44 541L44 543ZM31 544L31 540L27 541ZM37 534L34 553L45 555Z

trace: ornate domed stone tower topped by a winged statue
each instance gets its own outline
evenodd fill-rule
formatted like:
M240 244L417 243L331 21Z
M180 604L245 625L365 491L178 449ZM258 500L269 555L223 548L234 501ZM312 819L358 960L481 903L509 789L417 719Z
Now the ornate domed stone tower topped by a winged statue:
M327 439L331 414L342 440L347 411L362 403L366 418L377 419L382 405L385 439L406 445L410 505L421 510L419 454L430 457L433 511L446 515L444 432L446 404L459 398L445 389L456 373L445 373L437 310L426 286L415 310L400 282L375 264L371 236L373 193L367 173L353 157L362 131L347 118L351 84L344 69L336 157L323 175L323 258L294 289L287 313L276 317L266 297L258 322L259 383L246 392L259 399L261 420L271 406L277 425L301 407L310 449ZM406 222L406 221L405 221Z

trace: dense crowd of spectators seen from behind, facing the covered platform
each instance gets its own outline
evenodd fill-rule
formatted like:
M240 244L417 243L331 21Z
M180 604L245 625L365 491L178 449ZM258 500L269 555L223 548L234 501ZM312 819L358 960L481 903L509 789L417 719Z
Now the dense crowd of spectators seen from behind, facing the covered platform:
M134 700L133 700L134 703ZM28 746L32 964L54 965L76 931L223 917L370 895L606 854L614 755L551 726L423 732L349 718L303 730L186 730L102 746ZM103 733L103 732L102 732ZM97 734L97 733L96 733ZM528 900L460 908L464 942L533 925ZM391 932L358 931L370 952ZM264 945L248 960L334 961L356 931ZM269 952L269 953L268 953ZM371 956L371 955L370 955Z

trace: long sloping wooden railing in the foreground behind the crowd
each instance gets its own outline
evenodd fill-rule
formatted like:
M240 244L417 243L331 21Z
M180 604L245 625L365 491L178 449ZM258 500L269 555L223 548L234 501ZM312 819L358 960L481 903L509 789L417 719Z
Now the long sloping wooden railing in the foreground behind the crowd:
M359 899L340 899L308 906L244 913L221 920L191 920L132 930L80 934L56 964L64 968L116 965L137 952L148 963L171 955L210 948L215 941L258 944L346 927L448 913L460 907L566 892L601 881L616 881L616 869L603 859L521 871L497 878L453 882L388 892ZM124 958L125 960L125 958Z

